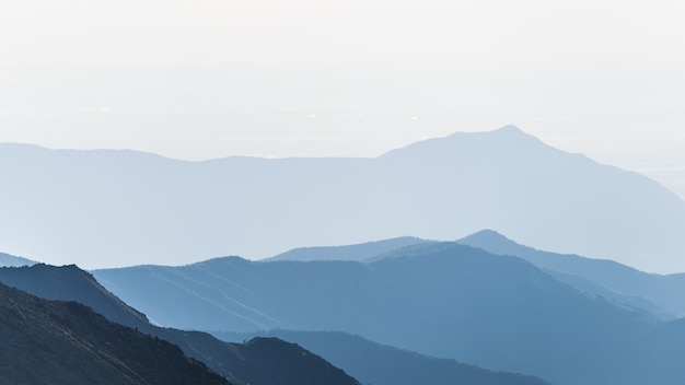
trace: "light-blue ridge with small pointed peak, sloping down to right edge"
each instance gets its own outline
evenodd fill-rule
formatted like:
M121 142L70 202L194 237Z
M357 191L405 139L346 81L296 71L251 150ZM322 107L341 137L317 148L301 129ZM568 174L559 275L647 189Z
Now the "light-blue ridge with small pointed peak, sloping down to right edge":
M545 269L578 290L649 311L665 318L685 316L685 275L653 275L606 259L559 255L520 245L495 231L480 231L458 243L513 255Z

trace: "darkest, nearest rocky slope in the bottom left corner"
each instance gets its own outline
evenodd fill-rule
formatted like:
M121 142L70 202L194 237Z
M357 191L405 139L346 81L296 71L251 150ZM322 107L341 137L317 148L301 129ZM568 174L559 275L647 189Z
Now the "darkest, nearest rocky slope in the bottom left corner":
M175 346L0 283L1 384L229 384Z

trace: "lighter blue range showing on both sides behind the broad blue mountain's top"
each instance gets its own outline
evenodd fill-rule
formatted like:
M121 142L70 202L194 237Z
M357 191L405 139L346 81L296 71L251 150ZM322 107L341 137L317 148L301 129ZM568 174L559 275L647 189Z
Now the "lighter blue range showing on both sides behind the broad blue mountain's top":
M301 247L264 260L370 262L383 259L403 246L436 242L402 237L337 247ZM579 291L645 310L663 319L685 316L684 273L648 273L608 259L544 252L521 245L492 230L483 230L455 242L492 254L520 257Z

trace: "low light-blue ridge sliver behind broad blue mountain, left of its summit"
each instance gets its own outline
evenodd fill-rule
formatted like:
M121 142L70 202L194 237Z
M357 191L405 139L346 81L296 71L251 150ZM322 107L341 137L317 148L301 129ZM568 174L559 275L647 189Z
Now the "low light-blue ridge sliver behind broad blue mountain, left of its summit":
M428 241L414 236L403 236L392 240L367 242L358 245L299 247L263 260L365 260L402 247L417 245L423 242Z

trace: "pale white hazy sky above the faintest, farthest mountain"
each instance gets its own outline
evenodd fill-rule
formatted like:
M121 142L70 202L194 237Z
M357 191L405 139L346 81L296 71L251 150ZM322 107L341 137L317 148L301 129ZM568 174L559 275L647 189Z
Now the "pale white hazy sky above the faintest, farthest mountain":
M9 0L0 141L372 156L507 124L685 196L682 1Z

